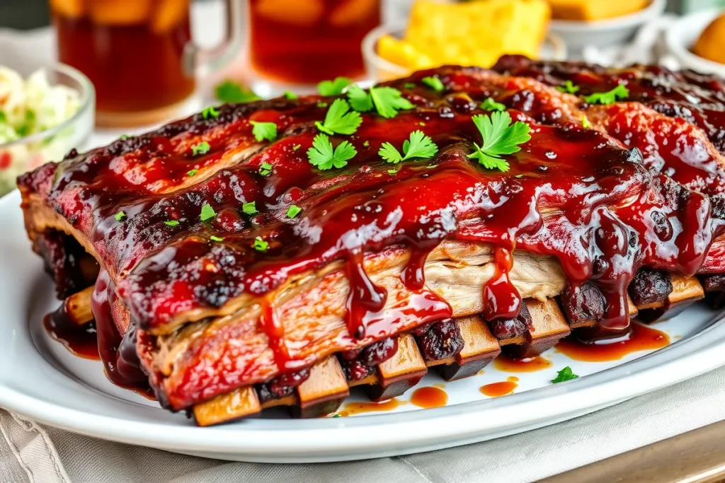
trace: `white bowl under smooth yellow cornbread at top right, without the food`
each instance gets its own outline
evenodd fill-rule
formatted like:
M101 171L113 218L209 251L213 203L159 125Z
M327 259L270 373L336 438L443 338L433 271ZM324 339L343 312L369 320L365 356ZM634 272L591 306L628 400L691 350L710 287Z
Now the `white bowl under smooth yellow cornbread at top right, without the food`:
M649 7L623 17L595 22L552 20L549 31L563 38L570 51L581 51L586 46L612 46L626 43L642 25L663 14L665 7L666 0L652 0Z

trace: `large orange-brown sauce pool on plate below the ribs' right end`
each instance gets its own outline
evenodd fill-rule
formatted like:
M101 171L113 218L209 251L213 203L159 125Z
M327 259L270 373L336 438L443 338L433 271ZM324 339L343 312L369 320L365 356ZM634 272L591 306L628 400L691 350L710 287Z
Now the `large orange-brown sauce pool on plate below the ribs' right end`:
M655 350L666 347L670 337L661 330L647 327L639 322L630 324L629 333L614 340L600 340L584 343L569 336L560 340L555 350L575 361L605 362L617 361L639 350Z

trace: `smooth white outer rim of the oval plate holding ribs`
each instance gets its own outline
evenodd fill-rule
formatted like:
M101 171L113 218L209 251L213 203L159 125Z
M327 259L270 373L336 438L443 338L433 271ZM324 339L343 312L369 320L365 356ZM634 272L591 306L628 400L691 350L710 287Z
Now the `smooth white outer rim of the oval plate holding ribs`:
M17 190L0 198L0 220L9 216L11 206L17 209L19 201ZM17 234L9 236L12 238ZM24 232L22 236L25 236ZM345 461L402 455L486 440L490 439L487 434L498 432L502 435L520 427L541 427L554 419L571 419L576 413L611 406L723 366L725 316L714 314L711 321L697 334L677 340L666 348L566 384L427 411L373 414L360 418L293 420L291 428L290 420L248 419L240 424L202 428L88 413L64 405L64 401L41 400L15 390L8 385L12 379L6 379L2 371L0 406L43 424L103 440L186 453L224 453L246 461ZM3 323L20 324L21 327L14 327L21 329L17 335L27 337L35 347L26 322L6 319ZM0 340L0 348L11 343ZM25 358L26 361L38 358L53 371L62 374L38 350L25 354ZM684 361L687 364L682 364ZM75 379L63 377L69 379L67 384L91 390ZM529 416L531 414L535 416ZM575 416L567 418L567 414Z

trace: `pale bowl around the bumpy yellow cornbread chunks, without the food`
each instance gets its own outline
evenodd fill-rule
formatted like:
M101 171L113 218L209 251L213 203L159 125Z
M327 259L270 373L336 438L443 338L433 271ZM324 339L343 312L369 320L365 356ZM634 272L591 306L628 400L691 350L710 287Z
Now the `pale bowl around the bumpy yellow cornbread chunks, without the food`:
M378 55L378 41L384 35L392 35L394 38L403 38L405 26L403 25L381 25L370 30L363 39L363 59L368 77L376 81L398 79L410 75L412 70L402 65L394 64ZM566 59L566 44L557 35L549 33L544 39L539 52L539 59L564 60Z

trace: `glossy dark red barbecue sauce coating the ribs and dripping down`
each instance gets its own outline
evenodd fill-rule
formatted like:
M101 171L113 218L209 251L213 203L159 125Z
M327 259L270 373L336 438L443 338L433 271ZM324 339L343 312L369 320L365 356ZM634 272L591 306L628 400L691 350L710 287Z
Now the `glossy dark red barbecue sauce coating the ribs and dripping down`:
M448 67L395 83L417 109L393 119L363 114L357 133L333 136L334 144L349 140L357 149L343 169L321 171L307 161L318 134L314 122L327 110L308 96L221 106L218 117L197 114L21 177L21 186L41 193L88 235L114 274L102 272L94 292L109 378L141 379L128 350L133 340L121 340L113 322L113 303L128 307L134 335L135 327L163 333L175 314L219 307L245 292L263 296L291 275L335 260L346 262L351 285L342 336L351 348L361 337L380 339L450 317L450 306L426 290L422 269L446 238L494 246L496 270L484 287L489 320L521 308L508 277L519 248L555 256L573 293L594 283L606 301L605 329L629 324L626 287L639 266L700 269L721 230L707 196L648 170L639 149L566 121L547 104L551 92L505 91L486 85L480 72ZM444 92L420 83L433 74L447 85ZM417 86L405 89L409 82ZM531 140L508 156L508 172L484 169L467 156L481 142L471 117L484 113L479 105L489 96L515 104L513 119L531 126ZM276 122L278 140L257 143L250 120ZM434 159L392 165L378 156L381 143L400 149L414 130L439 146ZM193 155L191 146L202 140L210 151ZM260 175L262 163L272 165L270 175ZM707 169L693 159L680 172L701 178ZM258 214L241 211L250 201ZM202 222L206 204L216 216ZM292 204L302 208L294 219L286 217ZM257 237L268 242L266 251L255 250ZM387 294L370 281L364 260L366 251L391 245L410 249L402 282L414 295L383 311ZM112 279L119 281L115 290ZM271 305L262 306L261 327L279 371L309 364L286 347Z

